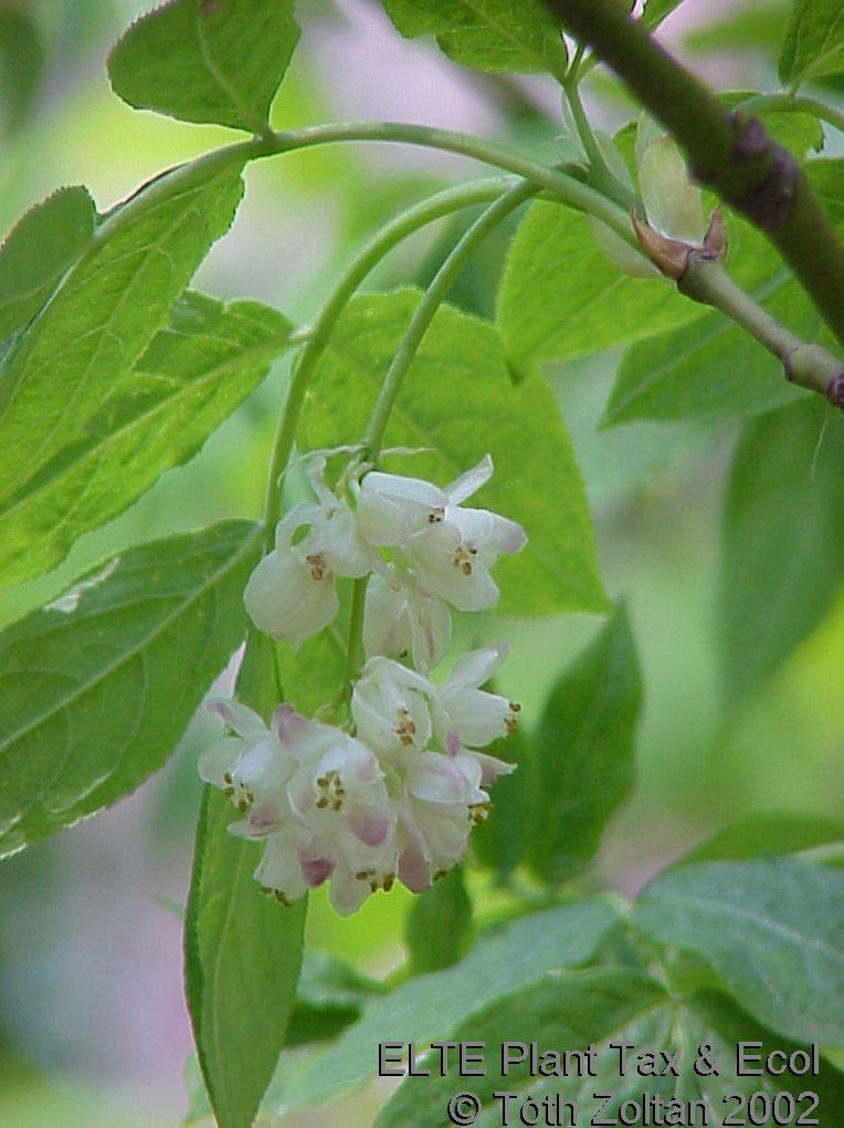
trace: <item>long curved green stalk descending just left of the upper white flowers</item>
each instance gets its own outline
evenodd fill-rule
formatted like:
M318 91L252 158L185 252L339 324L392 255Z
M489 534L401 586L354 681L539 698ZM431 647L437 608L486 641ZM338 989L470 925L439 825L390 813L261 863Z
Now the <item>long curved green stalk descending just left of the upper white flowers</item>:
M444 192L439 192L416 206L408 209L408 211L402 212L401 215L398 215L383 227L358 252L335 283L317 320L310 329L308 343L300 354L291 379L284 412L278 422L269 481L267 483L266 535L268 548L272 547L275 526L281 517L281 478L293 451L299 416L302 411L308 385L326 350L335 323L346 307L349 298L370 271L402 239L412 235L414 231L417 231L425 224L441 219L443 215L448 215L463 208L489 203L490 200L498 199L510 183L501 177L495 177L462 184L455 188L446 188Z

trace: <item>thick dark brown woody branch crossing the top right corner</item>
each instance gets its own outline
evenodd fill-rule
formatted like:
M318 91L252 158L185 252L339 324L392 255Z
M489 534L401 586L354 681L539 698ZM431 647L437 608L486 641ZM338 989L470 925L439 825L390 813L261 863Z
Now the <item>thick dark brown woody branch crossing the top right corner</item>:
M695 176L780 250L844 343L844 246L806 173L757 118L730 113L618 0L544 0L685 149Z

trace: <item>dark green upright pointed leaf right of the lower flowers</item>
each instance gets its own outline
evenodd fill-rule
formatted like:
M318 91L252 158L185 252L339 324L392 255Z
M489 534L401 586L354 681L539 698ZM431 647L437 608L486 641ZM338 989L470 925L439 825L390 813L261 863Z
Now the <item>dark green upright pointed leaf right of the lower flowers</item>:
M551 690L534 747L531 864L549 884L597 853L633 786L641 676L623 608Z

